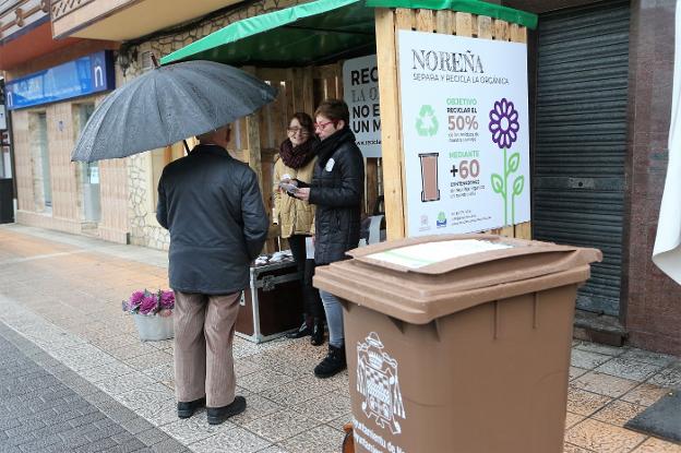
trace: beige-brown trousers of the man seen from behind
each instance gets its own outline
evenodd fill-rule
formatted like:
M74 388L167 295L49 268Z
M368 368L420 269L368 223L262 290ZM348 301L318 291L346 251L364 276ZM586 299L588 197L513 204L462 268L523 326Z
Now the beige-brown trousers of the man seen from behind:
M175 394L180 402L206 396L206 406L235 398L231 344L241 293L210 296L175 291Z

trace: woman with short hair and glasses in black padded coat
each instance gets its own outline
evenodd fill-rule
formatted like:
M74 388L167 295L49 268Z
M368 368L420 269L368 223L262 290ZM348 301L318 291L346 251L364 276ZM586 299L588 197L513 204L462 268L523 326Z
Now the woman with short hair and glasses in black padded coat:
M344 260L357 247L365 191L365 160L349 128L347 104L324 100L314 112L321 140L312 183L296 196L315 205L314 261L316 265ZM318 378L330 378L346 368L343 308L331 293L320 291L328 325L328 354L314 368Z

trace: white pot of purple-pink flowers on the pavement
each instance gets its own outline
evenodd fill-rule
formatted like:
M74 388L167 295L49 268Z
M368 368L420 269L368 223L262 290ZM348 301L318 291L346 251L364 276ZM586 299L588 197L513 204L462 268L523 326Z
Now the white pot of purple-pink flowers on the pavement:
M123 300L123 311L133 315L143 342L172 338L174 308L175 294L170 290L138 290Z

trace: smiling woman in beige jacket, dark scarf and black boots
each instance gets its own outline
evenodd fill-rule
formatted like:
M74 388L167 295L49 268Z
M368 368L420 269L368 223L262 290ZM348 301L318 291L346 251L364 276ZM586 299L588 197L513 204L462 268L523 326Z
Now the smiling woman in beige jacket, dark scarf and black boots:
M314 207L283 193L283 187L287 187L291 180L312 180L318 144L313 132L312 118L308 114L294 114L288 122L288 139L279 146L279 159L274 164L273 178L275 218L279 220L282 237L288 239L298 273L302 276L304 320L300 329L287 337L311 335L310 343L319 346L324 343L324 312L319 291L312 286L314 260L308 260L306 254L306 239L313 231Z

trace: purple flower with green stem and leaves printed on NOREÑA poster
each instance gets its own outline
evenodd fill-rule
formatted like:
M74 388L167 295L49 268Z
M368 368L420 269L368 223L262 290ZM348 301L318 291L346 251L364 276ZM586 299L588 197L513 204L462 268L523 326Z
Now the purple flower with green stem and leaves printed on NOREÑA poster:
M503 177L492 174L492 190L503 198L504 225L509 225L509 177L519 168L521 153L513 153L506 158L506 151L517 140L519 130L518 112L515 110L513 103L504 97L494 103L489 117L489 130L492 133L492 142L497 143L504 152L504 174ZM523 193L524 189L525 176L519 175L515 177L511 188L511 225L515 225L515 198Z

